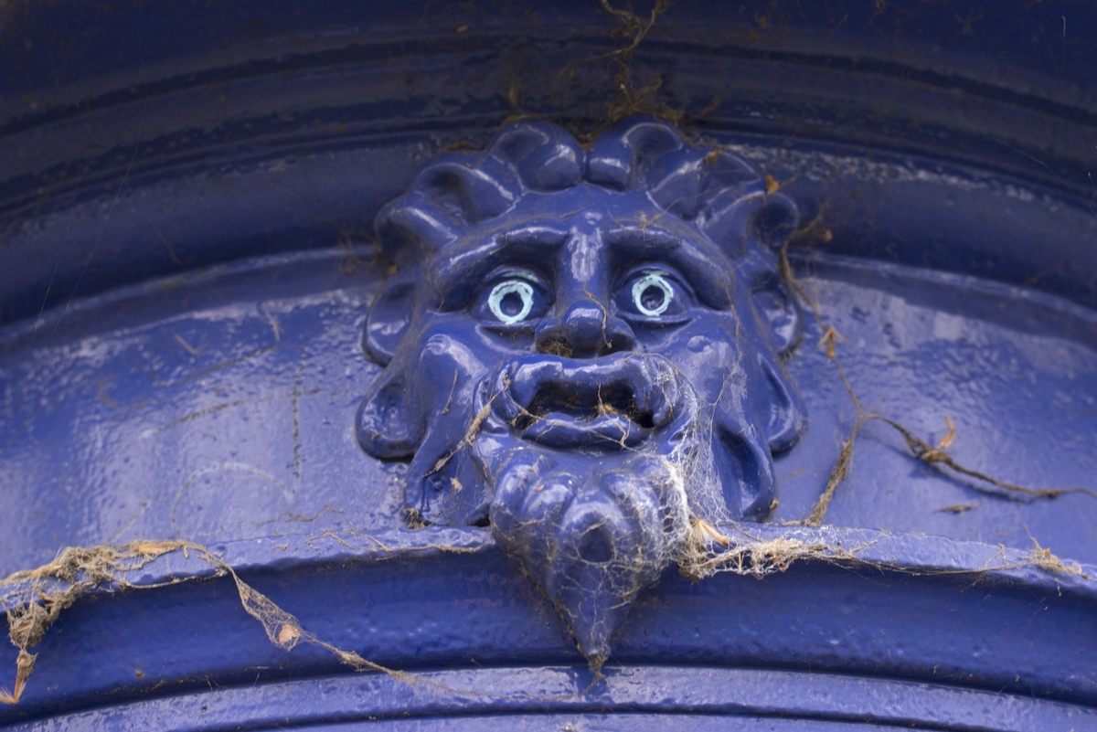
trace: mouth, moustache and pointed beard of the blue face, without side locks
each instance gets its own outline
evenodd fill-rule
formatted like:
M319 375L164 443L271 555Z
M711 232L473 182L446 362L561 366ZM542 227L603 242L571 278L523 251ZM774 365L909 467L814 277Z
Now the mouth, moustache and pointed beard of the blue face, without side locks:
M711 419L705 430L668 359L637 353L511 361L475 408L464 459L486 478L491 533L599 668L636 596L682 553L690 516L716 505Z

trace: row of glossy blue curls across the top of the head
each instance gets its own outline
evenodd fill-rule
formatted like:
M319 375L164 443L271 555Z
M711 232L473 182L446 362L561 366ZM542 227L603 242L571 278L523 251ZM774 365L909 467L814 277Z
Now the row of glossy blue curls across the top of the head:
M688 145L670 125L646 117L619 123L584 148L540 121L505 127L483 152L442 155L410 190L378 214L382 251L399 264L421 261L496 219L523 196L581 184L643 192L660 211L697 226L732 259L780 247L795 228L795 204L769 193L746 162L722 149ZM764 270L776 270L776 260Z

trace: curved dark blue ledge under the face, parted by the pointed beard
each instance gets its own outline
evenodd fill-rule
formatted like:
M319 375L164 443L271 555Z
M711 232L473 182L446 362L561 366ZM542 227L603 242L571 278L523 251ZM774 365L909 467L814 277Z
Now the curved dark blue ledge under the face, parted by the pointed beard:
M615 642L615 663L765 663L1097 701L1095 568L911 534L724 529L740 548L780 539L816 550L760 581L722 574L690 583L668 573L637 601ZM417 670L473 663L581 664L552 607L485 529L327 533L210 549L320 640L416 671L416 678ZM212 683L351 673L320 648L286 653L272 645L244 613L231 580L214 574L195 552L177 551L120 576L147 590L101 586L82 597L32 649L35 674L23 700L0 710L0 722ZM5 607L30 599L19 586L0 590ZM94 660L95 673L70 659ZM0 667L13 670L13 649L0 654ZM575 684L575 672L559 673ZM511 709L509 694L491 704Z

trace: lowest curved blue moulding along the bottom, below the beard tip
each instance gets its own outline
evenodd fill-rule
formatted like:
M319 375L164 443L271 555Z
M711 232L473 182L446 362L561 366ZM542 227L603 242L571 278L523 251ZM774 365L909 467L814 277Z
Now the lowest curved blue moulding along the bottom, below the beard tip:
M494 721L499 729L538 731L559 730L580 720L598 722L597 729L602 730L637 729L637 722L658 724L659 729L697 729L693 725L711 723L713 717L722 718L721 729L740 729L736 718L742 719L742 729L755 729L747 725L762 718L774 724L767 729L781 731L804 729L791 720L853 722L858 730L866 729L862 724L884 724L889 729L917 725L920 730L1066 732L1097 724L1097 711L1056 701L819 673L621 666L607 667L604 680L591 685L585 668L557 666L430 672L421 674L421 679L419 687L377 675L245 686L220 689L216 695L196 693L134 701L10 729L147 727L181 732L357 721L369 721L370 729L375 729L378 720L414 725L415 720L433 717L450 718L446 729L496 729ZM446 689L480 689L483 694L477 697ZM657 694L653 689L658 689ZM895 699L904 704L895 705ZM522 716L520 721L518 714ZM614 724L602 714L625 717ZM679 720L679 716L690 714L706 719ZM690 722L692 725L686 727Z

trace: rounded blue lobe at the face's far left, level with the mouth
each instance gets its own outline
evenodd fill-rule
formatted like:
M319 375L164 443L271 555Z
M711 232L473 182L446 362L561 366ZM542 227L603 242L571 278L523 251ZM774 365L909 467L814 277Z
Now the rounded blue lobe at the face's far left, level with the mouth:
M382 371L358 409L354 422L358 443L375 458L410 457L422 439L422 430L414 424L417 420L408 404L405 370Z

